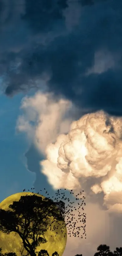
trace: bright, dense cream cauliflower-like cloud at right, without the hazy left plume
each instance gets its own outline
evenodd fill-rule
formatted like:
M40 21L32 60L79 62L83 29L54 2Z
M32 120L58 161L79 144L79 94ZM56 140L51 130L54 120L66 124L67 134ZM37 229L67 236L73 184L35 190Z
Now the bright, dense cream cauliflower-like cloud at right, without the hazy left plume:
M45 152L42 172L54 188L77 189L82 186L82 177L95 177L91 190L104 192L109 211L122 211L122 118L104 111L86 114L72 122L68 134L59 135Z

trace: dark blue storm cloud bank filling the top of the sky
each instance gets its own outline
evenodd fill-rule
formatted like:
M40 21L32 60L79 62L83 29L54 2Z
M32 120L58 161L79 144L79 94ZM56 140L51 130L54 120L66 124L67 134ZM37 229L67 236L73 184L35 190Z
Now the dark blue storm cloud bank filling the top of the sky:
M40 88L88 112L122 114L121 0L0 0L7 96Z

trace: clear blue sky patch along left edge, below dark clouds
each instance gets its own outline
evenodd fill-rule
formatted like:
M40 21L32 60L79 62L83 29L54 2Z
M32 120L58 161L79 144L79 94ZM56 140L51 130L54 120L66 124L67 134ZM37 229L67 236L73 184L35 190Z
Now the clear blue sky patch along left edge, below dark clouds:
M30 189L35 175L26 170L24 165L24 152L28 143L24 136L15 135L16 119L23 95L16 95L13 99L0 96L1 129L0 129L0 155L1 155L1 195L0 201L11 194Z

